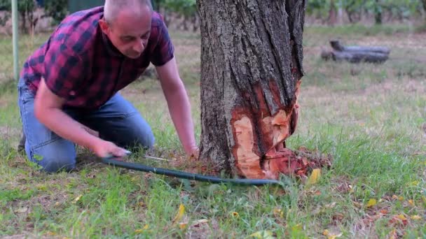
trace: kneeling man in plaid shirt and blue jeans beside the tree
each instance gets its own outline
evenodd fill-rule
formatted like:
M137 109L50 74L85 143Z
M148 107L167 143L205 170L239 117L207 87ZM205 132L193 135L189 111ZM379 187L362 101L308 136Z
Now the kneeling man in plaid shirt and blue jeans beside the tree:
M179 139L196 154L191 109L167 28L149 0L107 0L66 17L27 59L18 85L25 152L44 171L71 171L75 145L98 157L153 147L150 126L118 94L152 63Z

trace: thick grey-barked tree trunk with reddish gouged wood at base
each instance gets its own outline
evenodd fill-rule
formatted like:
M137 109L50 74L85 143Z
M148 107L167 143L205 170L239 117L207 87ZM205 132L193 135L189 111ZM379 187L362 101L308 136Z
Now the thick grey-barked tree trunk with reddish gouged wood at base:
M298 117L305 0L198 0L197 7L200 159L245 178L293 173L299 162L284 140Z

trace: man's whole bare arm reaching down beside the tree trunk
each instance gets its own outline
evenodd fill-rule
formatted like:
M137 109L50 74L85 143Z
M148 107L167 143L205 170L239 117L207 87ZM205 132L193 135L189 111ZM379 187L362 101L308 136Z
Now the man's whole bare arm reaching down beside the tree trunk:
M191 106L184 83L179 77L176 59L172 58L163 66L156 67L160 78L161 87L167 100L167 106L177 130L177 134L184 147L186 154L198 154L195 143L193 120L191 117Z

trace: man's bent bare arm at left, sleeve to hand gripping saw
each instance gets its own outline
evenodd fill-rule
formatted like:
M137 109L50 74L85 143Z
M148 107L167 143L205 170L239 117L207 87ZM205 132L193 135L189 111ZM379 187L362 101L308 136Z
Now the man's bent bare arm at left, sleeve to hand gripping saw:
M99 157L107 157L110 153L118 157L125 155L123 149L98 138L94 135L94 131L64 113L62 111L63 104L64 99L53 94L42 78L34 99L34 114L42 124L57 133L58 136L83 147L88 147Z

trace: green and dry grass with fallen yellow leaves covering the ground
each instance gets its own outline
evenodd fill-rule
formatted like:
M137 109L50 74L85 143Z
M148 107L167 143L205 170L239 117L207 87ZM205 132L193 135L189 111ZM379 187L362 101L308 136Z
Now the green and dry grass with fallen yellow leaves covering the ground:
M172 32L179 70L200 134L200 36ZM78 171L36 171L16 152L20 136L10 39L1 40L0 236L57 238L387 238L426 236L425 34L404 27L307 27L305 76L296 133L287 146L331 154L317 184L276 187L188 182L104 166L81 152ZM28 55L46 38L20 39ZM322 61L331 38L387 45L384 64ZM22 59L22 58L21 58ZM1 76L0 76L1 78ZM185 169L177 134L158 81L139 80L123 95L156 136L156 154ZM140 155L132 156L141 161ZM179 205L185 212L174 222ZM207 221L199 221L207 219ZM184 224L187 223L186 227ZM180 225L180 226L179 226Z

